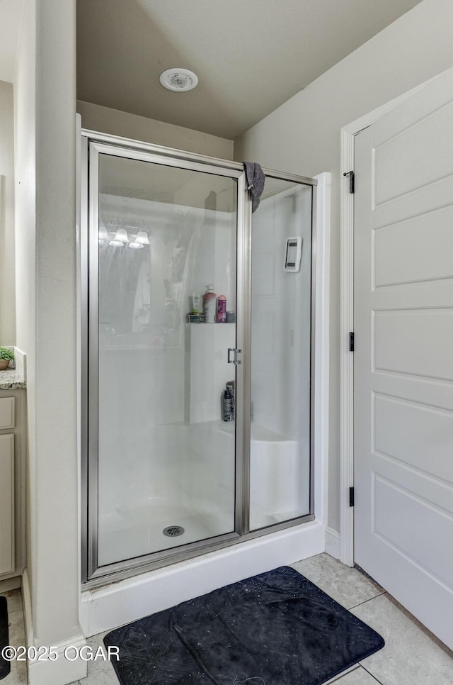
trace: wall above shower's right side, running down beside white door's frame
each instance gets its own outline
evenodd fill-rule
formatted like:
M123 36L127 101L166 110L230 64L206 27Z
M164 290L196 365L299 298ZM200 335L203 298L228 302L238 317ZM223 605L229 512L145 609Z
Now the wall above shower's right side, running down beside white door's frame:
M332 174L328 525L339 530L340 128L453 65L453 4L424 0L235 142L236 160ZM343 341L344 344L345 341Z

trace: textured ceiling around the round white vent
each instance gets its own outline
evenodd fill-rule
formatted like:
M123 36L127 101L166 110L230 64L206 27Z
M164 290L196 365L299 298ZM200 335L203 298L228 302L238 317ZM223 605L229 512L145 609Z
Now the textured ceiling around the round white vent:
M77 97L236 138L419 1L77 0Z

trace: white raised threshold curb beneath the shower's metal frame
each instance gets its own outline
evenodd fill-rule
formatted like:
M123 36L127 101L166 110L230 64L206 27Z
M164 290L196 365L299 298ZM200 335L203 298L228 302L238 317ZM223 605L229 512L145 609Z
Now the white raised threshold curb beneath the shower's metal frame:
M321 554L324 530L320 521L307 521L119 581L104 578L102 586L82 588L84 635L103 633L222 585Z

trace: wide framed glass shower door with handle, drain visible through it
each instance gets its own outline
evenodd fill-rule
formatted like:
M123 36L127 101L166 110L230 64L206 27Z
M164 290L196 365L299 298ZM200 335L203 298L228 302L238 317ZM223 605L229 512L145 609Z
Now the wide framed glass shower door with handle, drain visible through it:
M237 535L241 173L180 165L90 146L92 569Z

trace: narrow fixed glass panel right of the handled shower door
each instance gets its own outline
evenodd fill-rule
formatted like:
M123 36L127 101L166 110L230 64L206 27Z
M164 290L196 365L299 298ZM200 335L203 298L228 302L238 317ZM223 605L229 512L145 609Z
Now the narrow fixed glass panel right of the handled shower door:
M269 175L252 219L251 531L313 512L312 205Z

